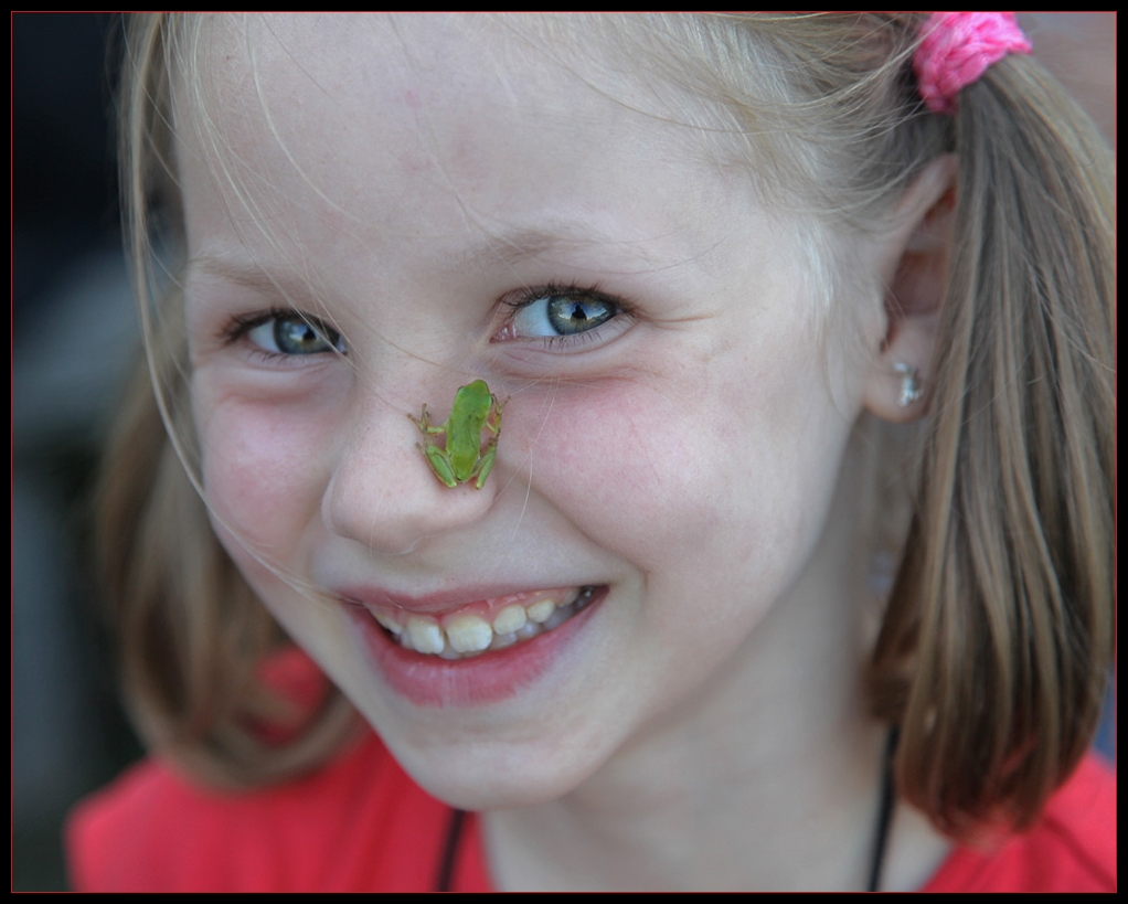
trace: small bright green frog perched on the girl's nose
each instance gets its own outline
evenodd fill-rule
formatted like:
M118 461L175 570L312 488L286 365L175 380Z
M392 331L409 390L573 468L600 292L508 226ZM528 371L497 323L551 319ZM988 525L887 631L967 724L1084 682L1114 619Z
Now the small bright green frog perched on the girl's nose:
M450 416L440 427L432 427L426 405L423 414L407 416L423 431L426 446L418 446L426 456L428 464L435 476L447 486L474 481L474 489L481 490L490 476L494 458L497 457L497 439L501 436L501 410L504 402L490 392L485 380L474 380L455 393L455 405ZM482 431L493 433L482 447ZM434 439L435 433L446 433L446 448L440 448Z

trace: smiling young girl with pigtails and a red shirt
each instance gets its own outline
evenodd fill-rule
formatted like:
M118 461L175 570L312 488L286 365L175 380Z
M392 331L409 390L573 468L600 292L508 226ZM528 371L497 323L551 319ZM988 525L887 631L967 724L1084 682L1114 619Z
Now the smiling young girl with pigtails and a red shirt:
M76 885L1114 889L1111 155L1029 51L134 21Z

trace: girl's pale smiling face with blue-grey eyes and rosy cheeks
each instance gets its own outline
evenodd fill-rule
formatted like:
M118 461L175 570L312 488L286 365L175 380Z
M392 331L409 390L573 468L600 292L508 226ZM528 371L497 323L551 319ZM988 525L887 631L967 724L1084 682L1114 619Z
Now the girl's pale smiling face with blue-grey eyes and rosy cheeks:
M811 580L861 376L799 230L610 50L237 23L205 28L210 122L176 111L217 529L424 787L554 798ZM476 378L496 463L448 489L408 415Z

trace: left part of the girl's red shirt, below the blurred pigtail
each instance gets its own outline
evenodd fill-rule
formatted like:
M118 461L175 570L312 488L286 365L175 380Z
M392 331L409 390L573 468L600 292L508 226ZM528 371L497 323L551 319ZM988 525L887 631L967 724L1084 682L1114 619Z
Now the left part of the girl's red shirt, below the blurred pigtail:
M450 818L369 732L311 775L244 793L146 761L79 805L67 846L80 892L431 892ZM491 890L476 818L451 887Z

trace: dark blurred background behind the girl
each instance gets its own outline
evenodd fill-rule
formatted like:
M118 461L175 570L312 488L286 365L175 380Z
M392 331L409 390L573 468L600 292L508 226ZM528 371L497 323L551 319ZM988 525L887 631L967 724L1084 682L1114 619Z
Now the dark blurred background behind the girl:
M1116 144L1116 14L1020 16ZM12 888L68 887L60 831L142 755L91 586L88 497L139 339L118 232L122 17L12 14ZM1114 720L1098 746L1114 761Z

